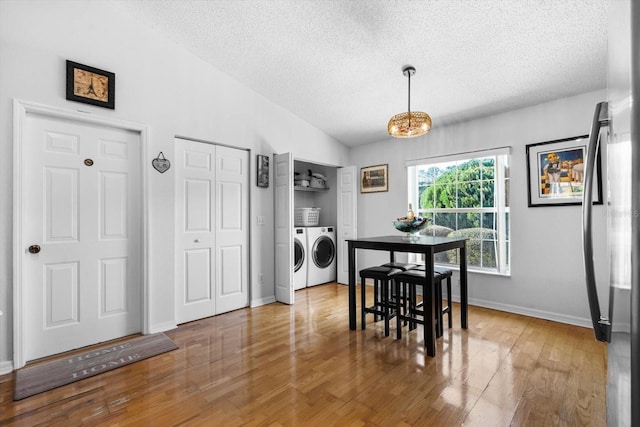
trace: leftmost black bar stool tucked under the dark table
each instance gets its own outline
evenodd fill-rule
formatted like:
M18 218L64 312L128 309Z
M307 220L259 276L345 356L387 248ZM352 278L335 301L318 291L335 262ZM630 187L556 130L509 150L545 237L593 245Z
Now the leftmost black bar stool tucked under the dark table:
M395 302L390 298L390 287L393 276L398 273L402 273L402 270L382 265L360 270L362 329L367 328L366 315L373 314L374 322L384 320L384 335L389 336L389 320L396 315ZM366 279L373 280L373 305L370 306L366 303Z

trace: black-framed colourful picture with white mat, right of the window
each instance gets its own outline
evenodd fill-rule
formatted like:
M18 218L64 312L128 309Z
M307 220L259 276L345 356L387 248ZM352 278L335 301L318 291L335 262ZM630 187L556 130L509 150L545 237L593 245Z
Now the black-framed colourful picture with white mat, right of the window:
M582 204L589 135L527 145L529 207ZM602 204L600 156L596 154L593 203Z

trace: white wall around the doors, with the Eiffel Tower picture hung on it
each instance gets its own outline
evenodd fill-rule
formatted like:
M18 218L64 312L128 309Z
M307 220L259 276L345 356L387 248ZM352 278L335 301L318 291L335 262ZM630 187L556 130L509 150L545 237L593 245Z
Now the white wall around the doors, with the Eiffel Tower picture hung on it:
M65 100L65 60L116 74L116 108ZM251 150L251 300L274 295L273 185L255 186L255 155L341 164L348 149L103 1L0 0L0 373L12 359L13 99L145 124L149 158L173 160L182 136ZM304 144L301 142L304 141ZM149 168L151 328L174 320L174 175ZM257 227L256 217L266 218ZM264 284L258 285L258 274Z

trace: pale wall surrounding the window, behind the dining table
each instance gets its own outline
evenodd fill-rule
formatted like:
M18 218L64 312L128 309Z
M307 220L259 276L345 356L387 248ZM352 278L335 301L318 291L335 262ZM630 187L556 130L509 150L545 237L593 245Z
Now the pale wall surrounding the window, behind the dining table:
M512 146L511 277L469 273L469 302L590 326L581 255L581 207L527 206L525 146L588 134L595 104L605 97L604 90L597 91L451 126L439 126L436 119L431 132L423 137L390 138L353 149L352 164L358 167L389 164L389 192L358 197L358 236L397 233L391 220L404 216L407 209L405 161ZM605 152L603 150L603 154ZM606 164L602 166L605 171ZM606 193L604 183L603 187ZM600 276L600 303L606 313L606 212L603 206L596 206L594 221L594 241L601 243L596 268ZM358 268L384 261L384 254L358 253ZM456 286L454 294L458 293Z

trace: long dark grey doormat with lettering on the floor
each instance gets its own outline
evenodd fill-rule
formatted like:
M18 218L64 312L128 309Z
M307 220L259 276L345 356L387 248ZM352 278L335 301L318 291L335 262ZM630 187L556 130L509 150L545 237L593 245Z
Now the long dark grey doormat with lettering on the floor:
M145 335L68 358L27 366L16 372L14 400L130 365L178 346L165 334Z

